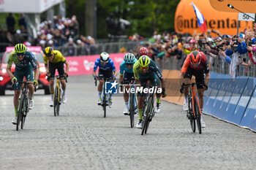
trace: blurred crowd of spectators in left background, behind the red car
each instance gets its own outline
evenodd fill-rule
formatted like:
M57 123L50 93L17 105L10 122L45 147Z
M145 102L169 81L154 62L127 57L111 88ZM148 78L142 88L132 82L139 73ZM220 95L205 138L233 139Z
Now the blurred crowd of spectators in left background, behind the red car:
M79 34L79 23L75 15L72 18L53 16L53 20L42 20L39 24L37 37L30 39L26 18L20 14L18 20L19 28L15 30L15 18L12 13L6 18L7 29L0 29L0 51L5 47L14 46L23 42L27 46L53 47L61 49L67 56L93 55L97 51L95 39L91 36Z

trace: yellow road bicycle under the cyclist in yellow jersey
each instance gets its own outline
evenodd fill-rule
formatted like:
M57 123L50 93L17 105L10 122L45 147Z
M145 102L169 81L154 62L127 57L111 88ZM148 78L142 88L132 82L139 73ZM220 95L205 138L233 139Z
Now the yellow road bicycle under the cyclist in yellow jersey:
M53 96L53 110L54 110L54 116L59 116L59 108L61 105L61 82L60 82L60 77L56 77L56 86L54 88L54 96ZM67 82L67 78L65 78Z

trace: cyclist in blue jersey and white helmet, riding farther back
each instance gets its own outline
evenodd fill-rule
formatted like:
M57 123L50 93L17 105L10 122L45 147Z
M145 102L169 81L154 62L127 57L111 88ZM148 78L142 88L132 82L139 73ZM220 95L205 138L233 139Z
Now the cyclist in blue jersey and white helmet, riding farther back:
M96 75L97 67L99 67L99 76ZM102 103L102 87L104 78L116 79L116 67L114 62L109 58L108 53L103 52L100 54L100 57L97 58L94 63L94 71L92 72L92 76L94 77L94 80L99 80L99 99L97 104L100 105ZM108 106L112 107L112 95L110 95L108 98Z

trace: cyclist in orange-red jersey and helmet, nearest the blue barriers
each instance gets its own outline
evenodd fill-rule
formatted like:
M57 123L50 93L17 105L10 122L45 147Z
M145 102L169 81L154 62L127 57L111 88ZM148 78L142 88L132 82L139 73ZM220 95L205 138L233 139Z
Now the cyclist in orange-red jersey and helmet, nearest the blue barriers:
M204 74L206 74L206 78L204 77ZM197 83L201 83L201 84L197 84L197 91L198 91L201 112L203 112L203 93L204 93L204 90L208 89L207 85L210 79L208 61L207 61L206 55L204 55L203 52L199 52L195 50L195 51L192 51L192 53L189 53L181 69L180 80L181 80L181 93L184 93L184 104L183 104L184 110L189 109L189 101L188 101L189 86L188 85L184 86L184 84L191 83L190 80L192 78L192 75L195 76L195 81ZM201 116L201 126L202 128L206 127L206 123L203 122L203 115Z

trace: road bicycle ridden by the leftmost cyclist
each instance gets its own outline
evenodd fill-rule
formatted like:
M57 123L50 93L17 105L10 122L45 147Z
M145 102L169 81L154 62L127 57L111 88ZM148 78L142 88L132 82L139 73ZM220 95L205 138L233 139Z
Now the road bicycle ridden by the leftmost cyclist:
M26 115L29 113L29 93L28 93L28 86L29 84L33 84L33 82L19 82L23 83L23 89L20 96L19 106L18 106L18 117L17 117L17 124L16 124L16 131L20 128L23 129L25 125ZM36 91L37 88L34 88Z

